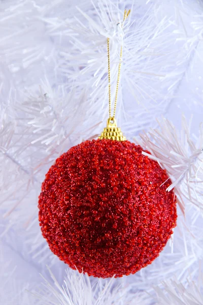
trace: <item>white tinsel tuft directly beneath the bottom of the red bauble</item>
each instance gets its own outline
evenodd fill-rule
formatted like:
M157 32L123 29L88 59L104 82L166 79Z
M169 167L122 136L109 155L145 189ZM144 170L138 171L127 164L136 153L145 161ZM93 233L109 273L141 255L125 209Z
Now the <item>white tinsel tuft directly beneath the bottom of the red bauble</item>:
M87 274L66 270L63 285L60 286L49 269L53 283L44 279L43 289L32 293L43 304L51 305L127 305L136 300L138 305L147 305L149 296L135 295L125 281L93 279ZM54 284L54 285L53 285Z

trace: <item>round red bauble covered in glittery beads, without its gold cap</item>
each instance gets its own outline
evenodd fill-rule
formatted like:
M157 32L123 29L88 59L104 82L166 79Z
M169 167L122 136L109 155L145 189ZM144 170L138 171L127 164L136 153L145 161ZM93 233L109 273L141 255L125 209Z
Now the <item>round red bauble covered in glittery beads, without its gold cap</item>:
M73 269L122 277L150 264L176 226L176 196L157 162L129 141L72 147L49 169L39 221L50 249Z

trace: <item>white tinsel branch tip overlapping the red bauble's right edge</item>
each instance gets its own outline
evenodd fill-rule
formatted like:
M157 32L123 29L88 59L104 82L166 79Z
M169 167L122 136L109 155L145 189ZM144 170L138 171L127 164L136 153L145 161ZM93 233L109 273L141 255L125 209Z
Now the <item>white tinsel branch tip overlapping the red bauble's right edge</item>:
M182 130L179 133L169 120L163 118L159 129L141 134L142 145L152 155L144 155L159 162L170 178L172 185L167 191L176 189L178 195L186 198L200 209L203 208L203 130L199 128L199 136L194 139L190 135L190 127L182 116ZM190 122L191 124L191 122ZM182 202L179 202L183 209Z

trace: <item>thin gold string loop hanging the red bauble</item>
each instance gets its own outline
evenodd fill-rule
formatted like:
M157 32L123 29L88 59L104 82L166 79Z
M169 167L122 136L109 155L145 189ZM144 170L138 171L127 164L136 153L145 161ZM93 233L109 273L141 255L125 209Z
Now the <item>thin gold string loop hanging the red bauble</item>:
M123 16L123 23L121 26L123 26L125 19L129 16L130 10L127 12L124 11ZM108 52L108 76L109 76L109 117L111 116L111 74L110 74L110 50L109 50L109 38L107 38L107 52ZM117 99L118 99L118 86L120 81L120 70L121 70L121 59L122 59L122 53L123 53L123 47L121 45L120 49L120 59L119 59L119 66L118 66L118 78L117 78L117 84L116 84L116 96L115 96L115 102L114 102L114 112L113 117L115 117L116 114L116 105L117 105Z

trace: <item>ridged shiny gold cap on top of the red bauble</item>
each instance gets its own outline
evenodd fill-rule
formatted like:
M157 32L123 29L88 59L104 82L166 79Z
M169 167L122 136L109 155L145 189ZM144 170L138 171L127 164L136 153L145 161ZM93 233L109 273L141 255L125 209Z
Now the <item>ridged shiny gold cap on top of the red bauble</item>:
M107 128L104 128L103 133L101 133L100 140L117 140L117 141L126 141L125 136L121 132L120 128L117 127L115 117L110 117L107 120Z

